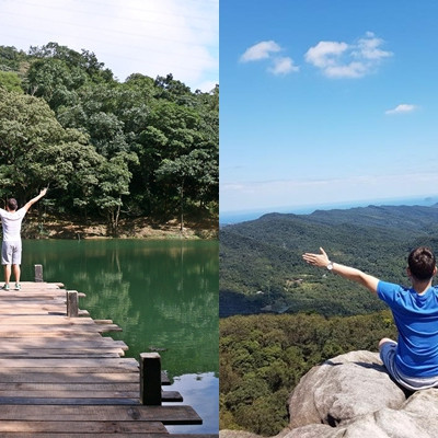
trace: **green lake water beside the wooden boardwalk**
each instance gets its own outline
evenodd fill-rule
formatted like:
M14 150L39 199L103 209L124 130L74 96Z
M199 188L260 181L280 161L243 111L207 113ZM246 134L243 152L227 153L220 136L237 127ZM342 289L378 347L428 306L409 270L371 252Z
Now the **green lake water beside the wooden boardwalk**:
M159 349L162 368L204 420L170 431L219 430L219 244L216 241L39 240L23 241L22 280L45 281L87 295L79 308L113 320L127 357Z

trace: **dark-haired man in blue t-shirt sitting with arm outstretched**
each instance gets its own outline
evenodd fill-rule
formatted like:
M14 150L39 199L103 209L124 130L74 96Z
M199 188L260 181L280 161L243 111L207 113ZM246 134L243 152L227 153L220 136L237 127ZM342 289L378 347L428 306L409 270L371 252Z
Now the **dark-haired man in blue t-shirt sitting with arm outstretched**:
M391 308L399 339L384 337L379 343L380 357L390 376L411 391L438 387L438 287L431 286L437 273L431 250L420 246L410 253L411 288L333 263L322 247L320 251L320 254L306 253L302 257L311 265L326 267L367 287Z

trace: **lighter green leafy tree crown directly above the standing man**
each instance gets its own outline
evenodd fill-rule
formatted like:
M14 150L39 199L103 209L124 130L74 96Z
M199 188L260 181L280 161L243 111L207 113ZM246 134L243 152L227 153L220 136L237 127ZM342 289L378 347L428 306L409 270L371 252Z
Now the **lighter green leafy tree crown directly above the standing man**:
M1 195L23 203L48 184L67 194L90 182L99 161L88 137L62 128L43 100L0 88Z

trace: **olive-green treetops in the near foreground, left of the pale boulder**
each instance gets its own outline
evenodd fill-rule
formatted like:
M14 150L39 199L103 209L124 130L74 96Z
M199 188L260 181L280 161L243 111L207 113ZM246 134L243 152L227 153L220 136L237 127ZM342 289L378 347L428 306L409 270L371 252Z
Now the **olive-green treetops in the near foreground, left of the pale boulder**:
M343 353L377 350L395 336L389 311L368 315L230 316L220 321L220 428L274 436L288 424L287 401L314 365Z

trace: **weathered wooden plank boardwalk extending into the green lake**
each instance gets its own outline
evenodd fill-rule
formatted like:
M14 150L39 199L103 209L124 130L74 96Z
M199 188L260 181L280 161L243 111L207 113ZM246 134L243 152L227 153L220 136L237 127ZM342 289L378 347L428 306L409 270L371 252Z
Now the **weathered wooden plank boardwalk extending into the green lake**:
M67 300L60 284L0 290L0 437L194 437L165 428L201 424L191 406L140 402L148 387L140 389L139 362L124 357L125 343L102 336L119 328L87 311L68 316ZM169 383L161 377L160 392Z

